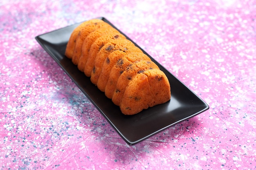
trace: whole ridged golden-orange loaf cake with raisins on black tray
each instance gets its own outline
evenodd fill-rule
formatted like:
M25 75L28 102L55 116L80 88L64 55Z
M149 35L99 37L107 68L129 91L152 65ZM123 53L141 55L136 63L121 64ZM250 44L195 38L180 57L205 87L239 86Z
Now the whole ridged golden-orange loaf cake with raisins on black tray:
M168 102L168 78L135 44L110 24L92 19L80 24L65 55L124 115Z

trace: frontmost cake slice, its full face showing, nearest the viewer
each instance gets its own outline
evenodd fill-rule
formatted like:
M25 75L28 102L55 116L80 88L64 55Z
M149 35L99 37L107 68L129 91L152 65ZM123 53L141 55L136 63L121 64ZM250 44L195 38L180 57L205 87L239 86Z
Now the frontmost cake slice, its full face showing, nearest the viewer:
M171 87L166 75L159 69L137 74L128 84L120 102L121 112L134 115L143 109L170 100Z

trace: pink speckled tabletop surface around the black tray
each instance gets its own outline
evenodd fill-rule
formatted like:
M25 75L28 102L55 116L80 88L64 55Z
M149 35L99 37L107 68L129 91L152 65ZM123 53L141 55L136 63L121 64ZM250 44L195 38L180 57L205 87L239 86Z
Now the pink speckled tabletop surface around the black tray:
M209 104L129 146L34 37L103 16ZM0 2L0 169L256 169L256 0Z

